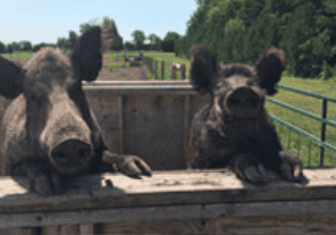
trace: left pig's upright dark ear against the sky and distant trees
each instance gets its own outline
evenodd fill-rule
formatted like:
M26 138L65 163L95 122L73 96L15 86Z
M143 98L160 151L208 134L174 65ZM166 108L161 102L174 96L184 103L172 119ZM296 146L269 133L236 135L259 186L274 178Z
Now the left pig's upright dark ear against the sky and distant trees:
M102 66L100 31L100 27L87 30L71 55L77 79L93 81L98 76Z

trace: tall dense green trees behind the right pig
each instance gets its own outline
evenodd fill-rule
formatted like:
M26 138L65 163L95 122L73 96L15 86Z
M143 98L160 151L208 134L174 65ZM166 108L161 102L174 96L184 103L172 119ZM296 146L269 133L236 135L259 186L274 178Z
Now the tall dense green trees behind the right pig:
M175 43L189 57L201 43L219 61L254 64L271 45L286 53L287 72L329 78L336 64L334 0L196 0L186 35Z

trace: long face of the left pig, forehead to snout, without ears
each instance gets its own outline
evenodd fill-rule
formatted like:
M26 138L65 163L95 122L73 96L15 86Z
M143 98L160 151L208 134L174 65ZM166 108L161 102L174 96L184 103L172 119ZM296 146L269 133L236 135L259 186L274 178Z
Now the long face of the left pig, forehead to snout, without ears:
M33 137L29 144L47 154L60 173L81 171L94 154L91 130L70 98L79 92L81 80L75 79L69 57L45 48L25 68L27 131Z

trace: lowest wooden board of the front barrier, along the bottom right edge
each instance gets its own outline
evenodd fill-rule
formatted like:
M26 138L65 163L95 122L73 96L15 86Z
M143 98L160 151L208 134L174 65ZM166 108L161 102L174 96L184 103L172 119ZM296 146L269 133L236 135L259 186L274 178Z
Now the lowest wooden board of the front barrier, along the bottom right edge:
M334 216L311 214L117 222L104 224L101 234L335 234Z

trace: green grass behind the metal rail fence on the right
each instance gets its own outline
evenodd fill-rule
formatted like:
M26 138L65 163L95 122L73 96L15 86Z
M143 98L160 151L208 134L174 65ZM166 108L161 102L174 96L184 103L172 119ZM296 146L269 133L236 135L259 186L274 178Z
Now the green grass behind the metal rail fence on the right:
M316 92L319 94L335 97L336 79L330 79L328 81L317 79L302 79L289 76L283 76L280 81L281 85L293 87L300 90L306 90ZM316 115L322 115L322 99L301 95L295 92L279 89L277 95L272 97L283 103L290 104L294 107L303 109L305 111L314 113ZM321 126L322 123L299 114L297 112L288 110L277 104L266 102L265 105L267 111L272 115L291 123L292 125L314 135L317 138L321 138ZM336 120L336 104L328 102L327 119ZM281 124L276 123L279 136L281 138L281 144L284 149L291 149L298 153L303 161L305 167L315 167L319 165L319 151L320 148L310 140L303 136L300 136L296 132L293 132ZM327 125L326 127L326 142L336 146L336 130L335 127ZM329 150L324 151L324 166L336 166L336 155Z

